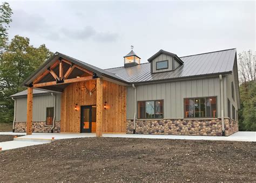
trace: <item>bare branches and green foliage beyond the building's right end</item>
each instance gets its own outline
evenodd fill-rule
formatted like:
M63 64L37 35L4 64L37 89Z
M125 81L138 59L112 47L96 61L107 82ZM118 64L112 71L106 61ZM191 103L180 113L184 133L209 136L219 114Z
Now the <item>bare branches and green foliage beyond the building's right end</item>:
M239 130L256 131L256 82L255 55L252 51L242 52L238 58L240 78Z

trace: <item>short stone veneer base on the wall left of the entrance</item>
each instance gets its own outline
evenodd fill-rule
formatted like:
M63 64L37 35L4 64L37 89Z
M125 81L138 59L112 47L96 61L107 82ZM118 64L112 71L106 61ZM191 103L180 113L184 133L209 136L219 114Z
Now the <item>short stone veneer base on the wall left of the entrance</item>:
M52 125L46 125L46 122L32 122L32 132L50 133ZM15 132L26 132L26 122L15 122ZM60 121L55 122L54 133L60 132Z

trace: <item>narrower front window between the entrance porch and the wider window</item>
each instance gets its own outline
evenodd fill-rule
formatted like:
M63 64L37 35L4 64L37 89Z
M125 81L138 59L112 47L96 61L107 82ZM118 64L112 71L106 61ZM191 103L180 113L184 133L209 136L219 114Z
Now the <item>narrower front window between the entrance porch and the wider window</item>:
M163 118L163 100L138 102L138 118Z

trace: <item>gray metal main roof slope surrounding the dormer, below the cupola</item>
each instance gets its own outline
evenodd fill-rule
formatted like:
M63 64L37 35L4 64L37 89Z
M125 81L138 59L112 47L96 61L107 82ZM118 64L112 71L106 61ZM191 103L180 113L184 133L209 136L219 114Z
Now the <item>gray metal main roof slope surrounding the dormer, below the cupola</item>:
M184 62L175 71L151 73L150 63L139 64L133 67L117 67L105 69L116 74L130 83L155 82L180 78L192 78L214 74L231 74L236 49L202 53L180 57Z

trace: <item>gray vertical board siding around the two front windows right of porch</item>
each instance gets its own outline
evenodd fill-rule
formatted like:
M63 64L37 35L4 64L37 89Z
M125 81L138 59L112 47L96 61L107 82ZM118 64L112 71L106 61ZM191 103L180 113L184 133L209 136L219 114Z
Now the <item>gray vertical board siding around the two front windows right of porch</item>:
M184 118L184 98L217 96L217 113L220 112L220 80L205 78L140 85L137 101L164 100L164 118ZM134 89L127 87L127 119L134 115ZM137 112L137 111L136 111Z

